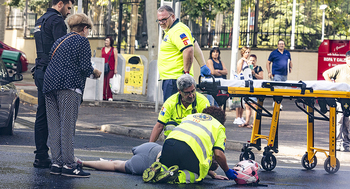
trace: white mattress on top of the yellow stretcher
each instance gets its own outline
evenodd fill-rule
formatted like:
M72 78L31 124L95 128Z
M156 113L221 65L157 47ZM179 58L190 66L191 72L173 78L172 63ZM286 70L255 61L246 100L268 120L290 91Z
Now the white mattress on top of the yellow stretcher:
M204 79L207 82L212 82L212 79ZM215 79L215 81L220 80L220 86L223 87L245 87L244 80L226 80L226 79ZM252 80L254 88L262 88L263 82L274 83L274 81L269 80ZM280 83L281 81L279 81ZM288 80L285 83L298 83L298 81ZM332 83L329 81L303 81L306 87L311 87L313 90L325 90L325 91L346 91L350 92L350 85L346 83ZM286 86L274 86L278 89L294 89L292 87Z

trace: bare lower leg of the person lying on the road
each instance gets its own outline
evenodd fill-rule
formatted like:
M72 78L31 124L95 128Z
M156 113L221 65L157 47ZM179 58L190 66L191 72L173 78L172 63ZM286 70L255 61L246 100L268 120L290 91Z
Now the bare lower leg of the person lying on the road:
M84 167L90 167L101 171L118 171L125 173L126 161L83 161Z

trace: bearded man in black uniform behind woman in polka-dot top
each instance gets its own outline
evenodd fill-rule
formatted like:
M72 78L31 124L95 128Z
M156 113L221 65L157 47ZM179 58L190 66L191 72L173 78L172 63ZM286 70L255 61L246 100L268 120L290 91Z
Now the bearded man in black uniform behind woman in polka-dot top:
M37 58L35 59L34 80L38 88L38 108L35 120L35 161L34 167L48 168L51 164L48 155L48 128L45 96L42 92L46 67L50 62L49 53L53 43L67 34L64 19L70 14L74 0L52 0L52 7L35 23L34 38Z

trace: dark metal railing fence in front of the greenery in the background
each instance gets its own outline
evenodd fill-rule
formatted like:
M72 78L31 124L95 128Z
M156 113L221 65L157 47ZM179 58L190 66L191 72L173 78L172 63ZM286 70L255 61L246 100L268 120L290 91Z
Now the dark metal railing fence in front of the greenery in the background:
M257 28L254 30L254 20L256 2L258 6ZM320 5L327 3L325 0L297 0L296 1L296 20L295 20L295 49L317 49L321 43L322 28L322 10ZM250 8L250 12L248 11ZM344 3L338 7L345 16L343 22L350 24L350 0L344 0ZM232 7L233 10L233 7ZM239 45L257 48L275 48L279 39L284 39L286 46L291 45L292 33L292 10L293 0L242 0L241 18L240 18L240 34ZM145 11L145 10L144 10ZM140 13L145 15L144 13ZM221 48L231 47L233 11L222 13L221 21L212 20L210 29L206 26L205 31L201 31L201 18L197 22L192 21L191 31L194 37L202 47L219 46ZM23 16L20 11L11 11L8 16L7 28L23 28ZM250 19L249 19L250 17ZM145 16L143 17L145 18ZM187 17L185 17L187 18ZM29 13L27 20L26 37L33 37L32 31L34 23L37 19L36 14ZM248 25L248 19L250 20ZM189 20L182 20L185 23ZM208 21L206 22L209 25ZM216 26L216 25L220 25ZM326 13L325 19L325 39L345 39L350 40L345 33L339 33L337 28L333 26L334 19ZM137 32L135 36L138 46L130 46L130 34L127 28L123 27L122 33L122 49L127 48L147 48L147 33L145 27L139 26L141 32ZM94 28L90 31L89 37L104 38L105 36L113 36L117 39L117 28L110 28L107 33L105 23L95 23ZM349 32L349 31L348 31ZM142 33L142 34L141 34ZM146 36L146 37L145 37ZM249 37L248 37L249 36ZM256 40L254 41L254 37Z

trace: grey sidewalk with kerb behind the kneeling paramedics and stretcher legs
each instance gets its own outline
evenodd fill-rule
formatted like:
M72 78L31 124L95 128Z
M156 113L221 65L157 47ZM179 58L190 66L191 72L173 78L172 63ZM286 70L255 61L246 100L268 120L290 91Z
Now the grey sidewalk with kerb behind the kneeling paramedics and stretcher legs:
M30 72L23 75L23 81L15 82L17 90L23 90L20 92L20 98L24 102L36 104L36 87ZM272 112L272 99L266 99L264 104L265 108ZM284 99L282 104L283 111L278 129L279 153L275 155L294 157L300 161L306 151L307 116L295 106L294 101ZM77 127L148 139L158 117L154 107L155 103L147 102L143 95L114 95L112 102L85 101L79 109ZM243 143L250 141L251 129L239 128L233 124L234 110L227 109L226 115L226 149L240 151ZM271 118L263 117L261 124L263 135L269 134L270 123ZM315 121L315 147L328 149L328 133L328 122ZM262 140L262 149L266 144L267 141ZM260 155L263 152L255 149L253 151ZM337 158L341 164L350 164L349 155L349 152L337 152ZM319 163L323 164L326 156L318 153L317 158Z

